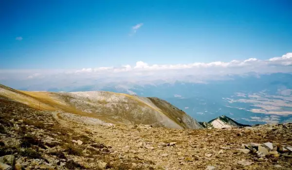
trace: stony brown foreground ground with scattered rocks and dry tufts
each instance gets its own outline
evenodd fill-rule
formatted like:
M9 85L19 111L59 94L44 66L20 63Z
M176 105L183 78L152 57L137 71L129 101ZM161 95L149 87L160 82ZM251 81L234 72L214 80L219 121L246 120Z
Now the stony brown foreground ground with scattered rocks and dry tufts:
M0 169L292 170L292 124L179 130L95 120L0 98Z

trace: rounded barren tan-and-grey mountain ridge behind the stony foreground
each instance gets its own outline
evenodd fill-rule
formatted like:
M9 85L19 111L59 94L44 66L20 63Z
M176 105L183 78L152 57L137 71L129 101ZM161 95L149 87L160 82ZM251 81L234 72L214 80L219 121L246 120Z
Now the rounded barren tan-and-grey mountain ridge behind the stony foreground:
M28 106L74 113L113 124L149 124L168 128L202 128L182 110L158 98L88 91L71 93L19 91L0 85L0 95Z

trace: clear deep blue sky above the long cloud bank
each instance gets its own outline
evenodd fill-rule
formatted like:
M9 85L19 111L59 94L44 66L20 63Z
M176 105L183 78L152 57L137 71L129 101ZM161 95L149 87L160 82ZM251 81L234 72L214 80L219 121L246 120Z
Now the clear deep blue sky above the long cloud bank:
M292 51L291 7L291 0L2 0L0 69L265 60Z

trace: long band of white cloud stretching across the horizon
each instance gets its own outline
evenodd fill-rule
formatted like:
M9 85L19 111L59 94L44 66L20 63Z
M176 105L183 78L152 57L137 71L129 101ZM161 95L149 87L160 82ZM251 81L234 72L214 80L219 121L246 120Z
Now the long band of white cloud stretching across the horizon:
M140 26L141 27L141 26ZM138 27L135 27L138 28ZM69 84L78 82L82 85L96 84L96 82L175 82L177 80L192 83L206 83L208 80L226 80L229 75L245 75L256 72L257 75L275 72L292 72L292 53L268 60L250 58L246 60L232 60L230 62L189 63L189 64L148 64L138 61L135 65L121 67L97 67L82 69L51 69L51 70L13 70L0 69L0 83L15 82L22 85L24 80L39 78L52 85L57 82ZM66 79L66 81L64 81ZM18 81L16 83L16 81ZM49 85L49 84L48 84ZM178 96L177 96L178 97ZM180 97L181 98L181 97Z

